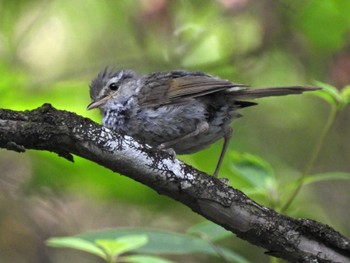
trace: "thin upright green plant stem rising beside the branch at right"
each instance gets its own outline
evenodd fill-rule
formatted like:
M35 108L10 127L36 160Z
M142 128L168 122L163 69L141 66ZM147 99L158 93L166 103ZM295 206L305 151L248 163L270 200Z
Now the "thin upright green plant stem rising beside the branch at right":
M338 108L337 107L332 107L331 113L328 117L327 123L320 135L320 138L318 140L318 143L316 144L314 150L312 151L309 160L306 162L304 171L302 172L301 176L298 179L298 185L295 188L294 192L292 193L292 195L289 197L289 199L287 200L287 202L284 204L284 206L282 206L281 208L281 213L285 212L290 205L293 203L293 201L295 200L296 196L298 195L298 193L300 192L301 188L304 185L304 179L305 177L310 173L311 169L313 168L315 161L317 160L318 156L320 155L322 146L324 145L324 142L326 141L326 138L331 130L331 128L334 125L334 122L336 120L336 117L338 115Z

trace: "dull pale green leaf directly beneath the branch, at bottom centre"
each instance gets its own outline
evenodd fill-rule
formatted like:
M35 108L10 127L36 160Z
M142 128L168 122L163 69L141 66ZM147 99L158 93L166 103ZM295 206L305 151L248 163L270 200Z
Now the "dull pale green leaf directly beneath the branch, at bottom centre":
M227 237L232 237L232 233L222 226L211 221L204 221L187 230L188 234L202 236L205 235L210 241L218 241Z

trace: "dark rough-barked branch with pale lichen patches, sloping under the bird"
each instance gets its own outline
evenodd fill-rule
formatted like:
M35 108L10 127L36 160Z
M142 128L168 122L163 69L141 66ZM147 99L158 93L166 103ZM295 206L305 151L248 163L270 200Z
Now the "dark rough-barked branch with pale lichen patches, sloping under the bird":
M163 151L121 136L49 104L32 111L0 110L0 147L81 156L190 207L238 237L291 262L350 262L350 240L329 226L263 207L239 190Z

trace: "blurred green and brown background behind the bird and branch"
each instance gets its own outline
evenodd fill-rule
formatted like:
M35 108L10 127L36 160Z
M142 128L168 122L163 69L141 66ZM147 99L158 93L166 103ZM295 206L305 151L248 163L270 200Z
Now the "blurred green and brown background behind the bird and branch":
M105 66L140 73L199 70L254 87L318 80L342 90L350 84L349 14L348 0L0 0L0 108L51 103L100 122L99 112L87 112L86 106L88 85ZM330 105L312 94L262 99L242 110L221 177L278 210L293 192L330 112ZM349 127L345 108L312 173L350 173ZM221 145L179 158L212 173ZM241 155L267 167L264 183L237 174L234 161ZM349 187L348 180L336 179L308 184L286 213L350 235ZM79 157L69 163L46 152L0 150L1 262L101 262L47 248L43 241L104 227L185 232L203 220ZM235 236L224 243L251 262L271 260ZM173 260L221 262L203 255Z

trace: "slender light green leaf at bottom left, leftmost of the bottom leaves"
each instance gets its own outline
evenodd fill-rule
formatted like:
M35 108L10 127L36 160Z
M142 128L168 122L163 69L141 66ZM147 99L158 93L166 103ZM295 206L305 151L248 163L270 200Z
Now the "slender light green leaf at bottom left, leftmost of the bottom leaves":
M53 237L46 241L46 244L50 247L56 248L72 248L77 250L82 250L90 254L94 254L103 259L106 258L104 251L96 246L94 243L88 240L84 240L79 237Z

